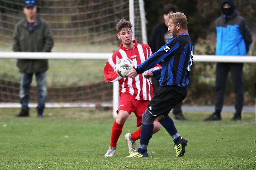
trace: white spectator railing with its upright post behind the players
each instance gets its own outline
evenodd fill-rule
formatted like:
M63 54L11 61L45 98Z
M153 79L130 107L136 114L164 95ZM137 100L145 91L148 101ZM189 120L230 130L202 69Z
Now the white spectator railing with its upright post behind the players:
M0 52L0 59L93 59L107 60L112 53L35 53L35 52ZM72 56L72 57L70 57ZM225 63L256 63L256 56L222 56L222 55L193 55L193 62L225 62ZM119 84L113 83L113 117L116 117L116 110L119 102ZM256 101L255 101L256 120Z

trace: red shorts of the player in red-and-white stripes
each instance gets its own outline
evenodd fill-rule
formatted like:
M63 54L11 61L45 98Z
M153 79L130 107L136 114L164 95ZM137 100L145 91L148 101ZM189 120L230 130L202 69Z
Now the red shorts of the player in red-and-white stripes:
M136 100L130 93L122 93L119 96L119 107L116 113L118 114L119 110L127 111L129 115L134 112L137 117L137 127L139 127L148 102L148 100Z

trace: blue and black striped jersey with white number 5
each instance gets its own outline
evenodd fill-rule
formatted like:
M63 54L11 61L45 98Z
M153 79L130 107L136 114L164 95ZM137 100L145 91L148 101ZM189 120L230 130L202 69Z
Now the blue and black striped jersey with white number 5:
M179 34L167 41L162 48L138 65L137 73L163 62L161 69L153 71L161 86L177 85L184 87L189 83L189 71L193 62L193 45L188 34Z

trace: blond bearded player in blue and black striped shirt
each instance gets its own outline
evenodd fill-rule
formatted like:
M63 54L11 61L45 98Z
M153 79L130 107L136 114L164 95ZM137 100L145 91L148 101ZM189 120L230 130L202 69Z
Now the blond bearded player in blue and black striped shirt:
M156 95L149 102L142 115L140 146L127 158L148 157L148 143L153 135L153 122L157 119L172 136L176 157L183 156L188 141L180 137L172 119L168 116L173 107L187 96L186 86L189 83L189 71L193 62L193 45L188 35L188 21L185 14L176 12L168 14L168 31L172 38L152 54L147 60L129 71L127 77L135 78L138 74L144 77L159 79ZM164 60L163 67L153 72L145 72Z

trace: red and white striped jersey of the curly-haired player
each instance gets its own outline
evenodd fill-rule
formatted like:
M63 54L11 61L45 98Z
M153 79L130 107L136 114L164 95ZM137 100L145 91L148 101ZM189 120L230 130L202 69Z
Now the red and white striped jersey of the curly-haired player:
M116 62L120 58L129 58L133 61L136 68L140 63L144 62L151 54L151 49L147 44L139 44L136 40L132 49L127 49L120 45L120 48L113 53L104 66L103 73L106 82L119 81L119 93L129 92L137 100L151 100L153 97L153 87L150 79L144 78L144 74L139 74L136 78L122 78L116 73ZM148 71L153 71L161 68L157 64L154 68ZM146 71L147 72L147 71Z

